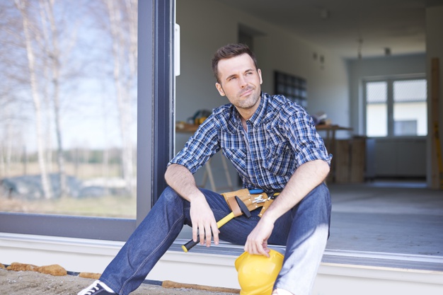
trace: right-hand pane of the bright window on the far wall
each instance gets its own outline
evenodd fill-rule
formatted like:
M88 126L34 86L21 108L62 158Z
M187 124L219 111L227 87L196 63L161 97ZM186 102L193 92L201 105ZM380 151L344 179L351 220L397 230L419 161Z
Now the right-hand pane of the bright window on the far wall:
M427 135L426 80L394 81L393 120L395 136Z

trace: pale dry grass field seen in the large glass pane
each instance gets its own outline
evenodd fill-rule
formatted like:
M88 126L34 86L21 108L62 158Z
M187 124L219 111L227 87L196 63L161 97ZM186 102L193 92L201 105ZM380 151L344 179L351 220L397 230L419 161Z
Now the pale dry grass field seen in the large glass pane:
M38 175L38 164L23 163L11 165L8 175L2 178L13 178L23 175ZM57 166L50 166L50 173L55 173ZM120 166L117 164L103 166L100 163L67 163L67 175L75 177L83 183L106 183L111 188L122 189L122 179L119 177ZM95 184L96 185L96 184ZM97 186L97 185L96 185ZM135 190L135 188L134 188ZM55 199L29 199L9 194L0 190L0 211L25 212L41 214L65 214L76 216L108 216L115 218L136 217L135 195L100 195L94 197L62 197Z

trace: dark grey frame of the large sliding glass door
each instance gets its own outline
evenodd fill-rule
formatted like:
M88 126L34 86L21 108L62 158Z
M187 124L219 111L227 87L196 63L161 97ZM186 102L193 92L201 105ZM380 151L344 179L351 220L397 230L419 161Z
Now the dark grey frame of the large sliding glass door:
M138 19L137 219L0 212L0 232L126 241L166 187L175 127L175 1L139 1Z

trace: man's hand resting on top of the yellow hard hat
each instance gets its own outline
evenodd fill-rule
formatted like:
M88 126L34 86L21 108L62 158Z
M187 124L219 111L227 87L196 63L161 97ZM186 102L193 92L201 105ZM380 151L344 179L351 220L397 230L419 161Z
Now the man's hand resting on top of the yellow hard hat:
M250 254L265 255L269 257L270 249L267 248L267 239L271 236L272 229L274 229L274 223L265 219L258 221L255 229L251 231L244 250Z

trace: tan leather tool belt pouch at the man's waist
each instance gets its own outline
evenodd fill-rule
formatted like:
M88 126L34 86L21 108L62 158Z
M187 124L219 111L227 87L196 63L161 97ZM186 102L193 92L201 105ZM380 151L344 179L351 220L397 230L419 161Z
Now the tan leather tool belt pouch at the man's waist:
M258 216L260 217L263 215L267 207L269 207L270 203L272 203L272 199L267 199L267 195L265 192L251 195L247 188L243 188L242 190L235 190L233 192L224 192L222 193L222 196L224 197L226 203L228 203L231 211L234 212L234 216L241 215L241 209L236 202L236 196L239 197L241 201L246 204L246 207L248 207L248 210L250 212L257 209L258 207L262 207L260 214L258 214ZM262 201L258 202L257 199L261 199Z

